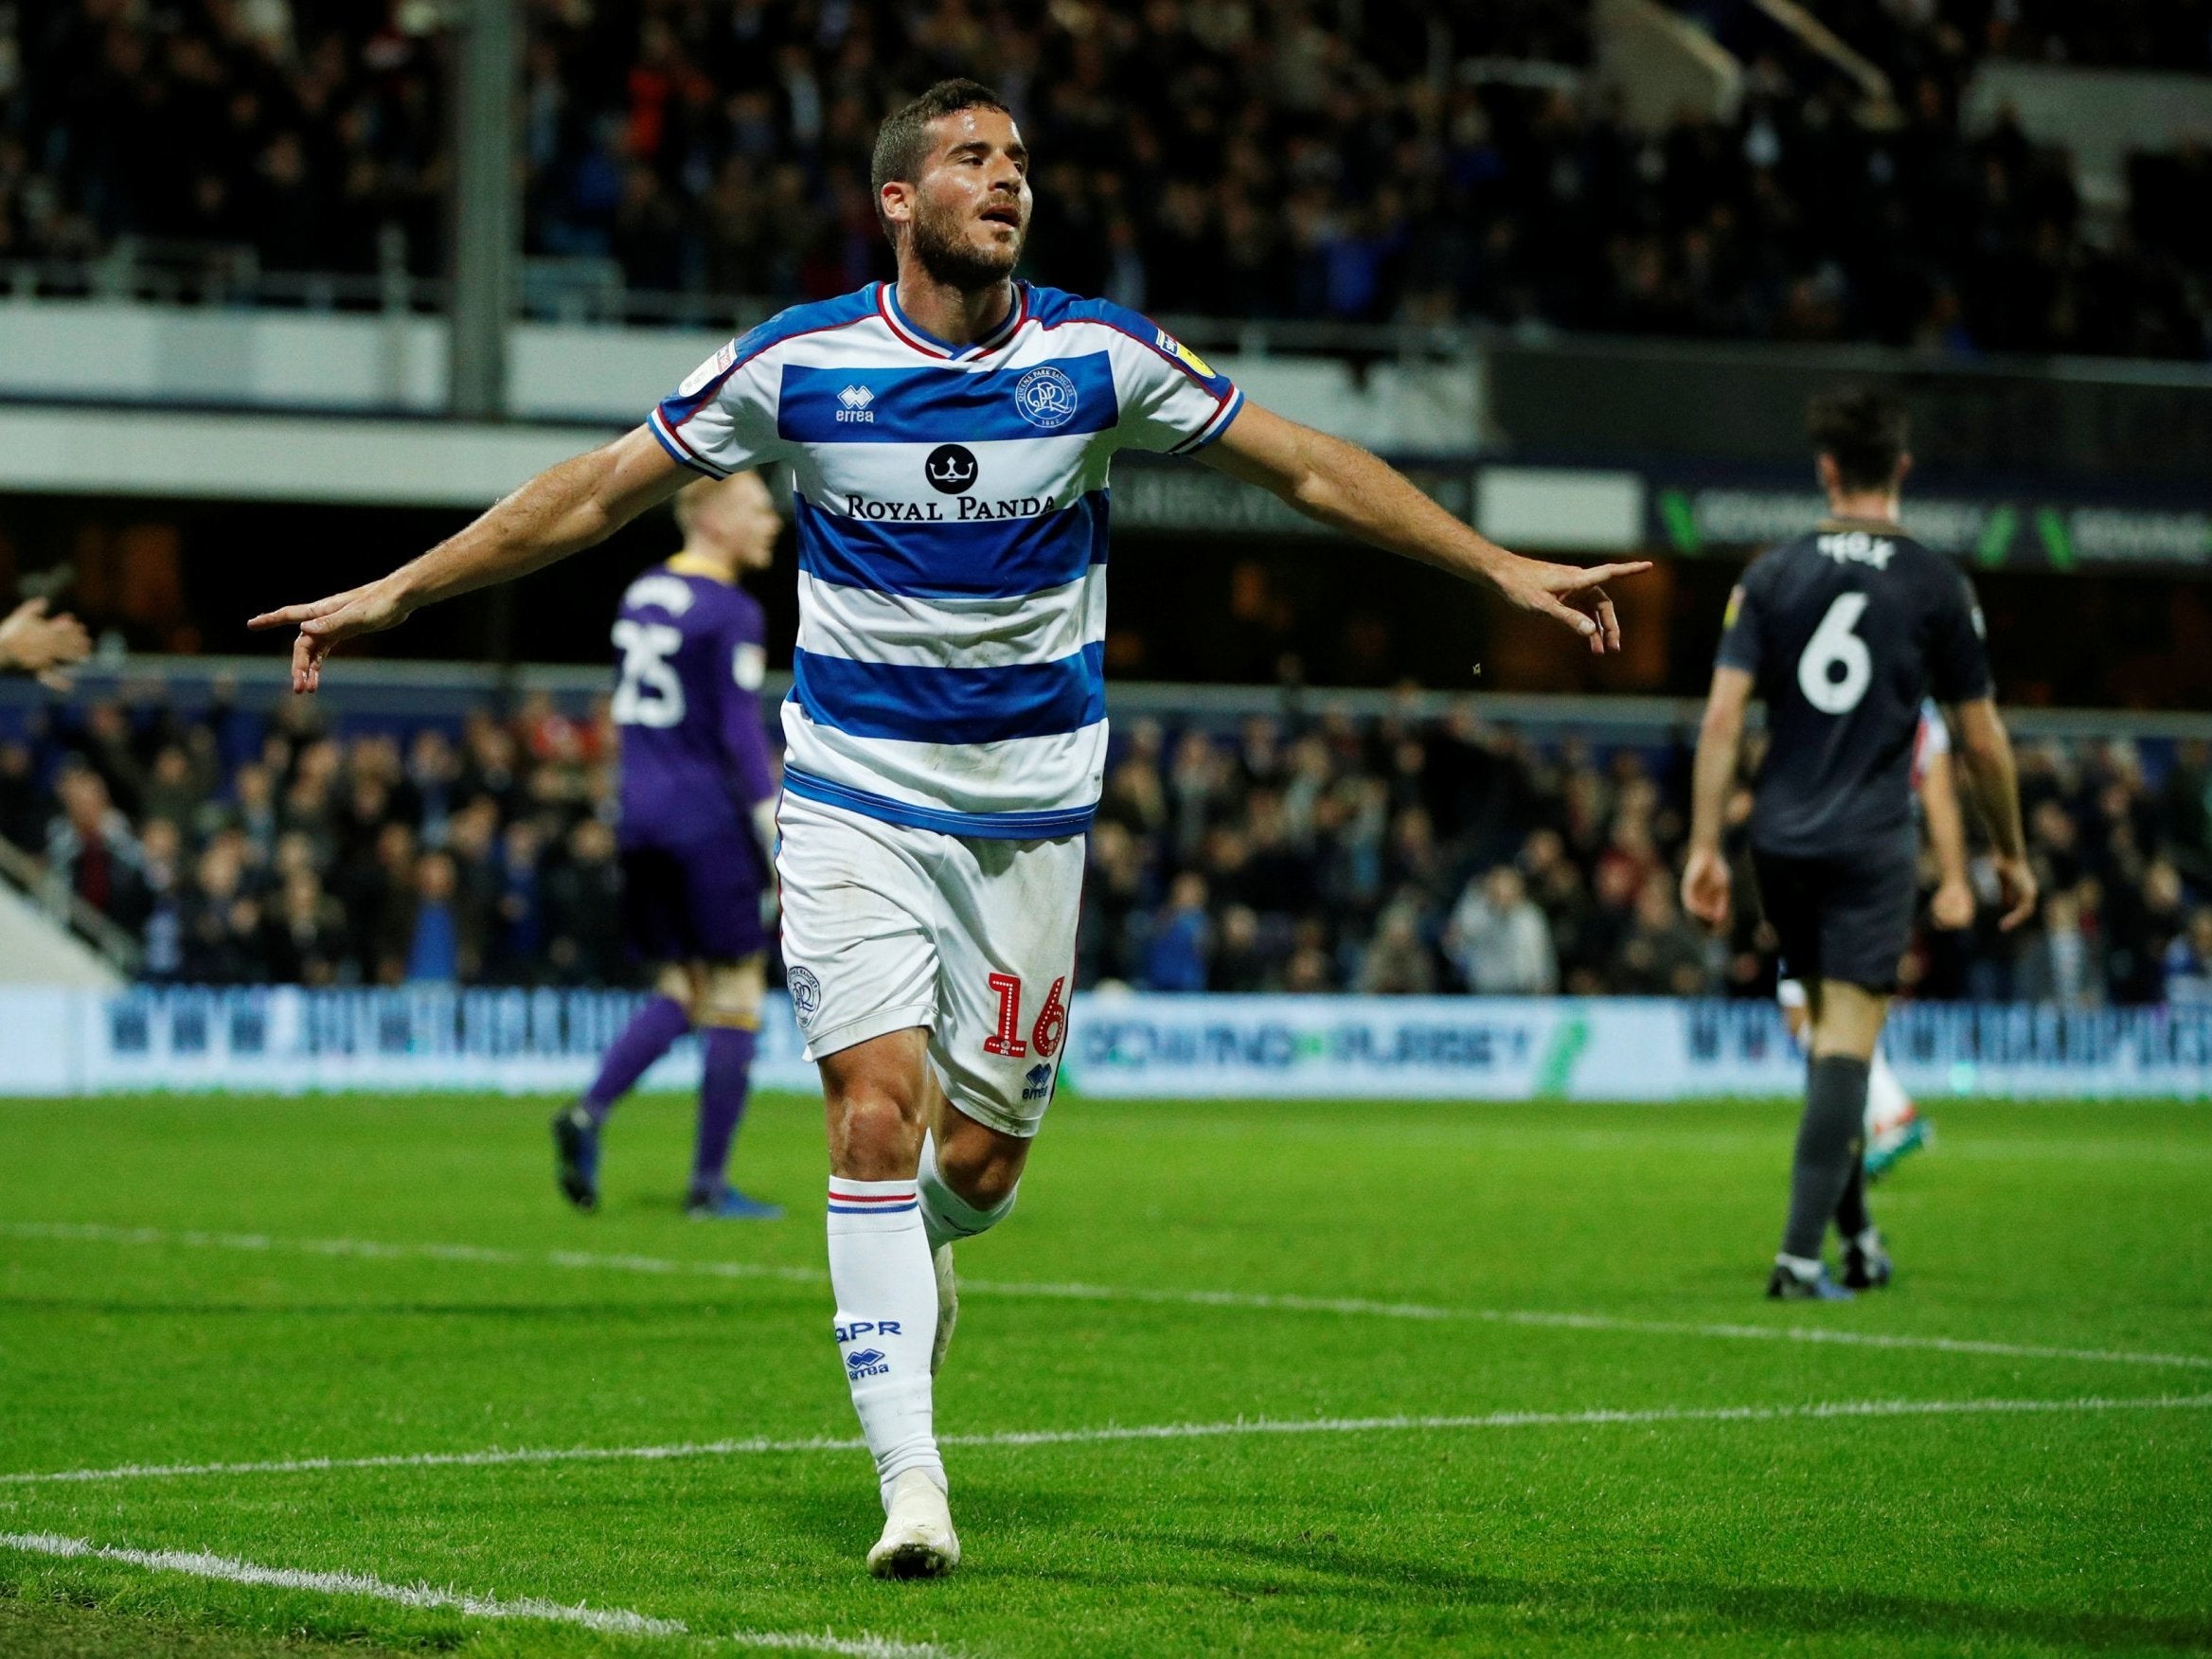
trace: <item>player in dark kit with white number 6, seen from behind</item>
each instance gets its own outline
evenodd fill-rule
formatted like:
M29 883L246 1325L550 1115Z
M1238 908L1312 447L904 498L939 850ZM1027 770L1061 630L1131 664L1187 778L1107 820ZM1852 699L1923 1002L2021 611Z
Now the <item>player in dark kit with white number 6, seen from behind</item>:
M2035 876L2020 834L2013 748L1991 697L1982 611L1949 560L1898 529L1911 467L1905 405L1874 389L1832 392L1812 400L1807 427L1829 520L1754 560L1730 595L1697 741L1681 900L1725 927L1721 816L1743 710L1759 697L1767 759L1752 807L1752 867L1781 936L1783 973L1805 984L1812 1013L1790 1223L1767 1294L1836 1301L1889 1283L1860 1157L1867 1068L1920 896L1911 765L1924 697L1958 728L2006 929L2035 911ZM1832 1217L1845 1243L1840 1285L1820 1259Z

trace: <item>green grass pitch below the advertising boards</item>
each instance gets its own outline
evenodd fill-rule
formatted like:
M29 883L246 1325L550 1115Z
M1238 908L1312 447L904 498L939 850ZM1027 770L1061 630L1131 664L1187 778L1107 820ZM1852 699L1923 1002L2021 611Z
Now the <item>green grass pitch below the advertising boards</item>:
M818 1104L774 1225L675 1099L571 1214L549 1108L0 1104L0 1652L2212 1646L2203 1108L1940 1108L1896 1290L1774 1307L1787 1106L1062 1102L940 1584L860 1566Z

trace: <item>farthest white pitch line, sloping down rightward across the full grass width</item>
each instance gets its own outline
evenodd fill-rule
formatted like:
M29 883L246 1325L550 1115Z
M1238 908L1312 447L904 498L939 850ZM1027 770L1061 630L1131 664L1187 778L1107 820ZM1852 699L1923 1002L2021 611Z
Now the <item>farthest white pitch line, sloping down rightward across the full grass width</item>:
M781 1267L750 1261L670 1261L664 1256L602 1256L584 1250L495 1250L449 1243L376 1243L369 1239L274 1239L261 1232L161 1232L159 1228L106 1228L77 1221L0 1221L0 1237L55 1239L75 1243L181 1245L192 1250L259 1250L305 1256L358 1256L367 1261L471 1261L495 1267L564 1267L575 1272L630 1272L701 1279L776 1279L825 1285L818 1267ZM1338 1314L1347 1318L1409 1318L1431 1323L1533 1325L1568 1332L1626 1332L1632 1336L1703 1336L1734 1343L1827 1343L1836 1347L1924 1349L1933 1354L1980 1354L2008 1360L2077 1360L2086 1365L2179 1365L2212 1369L2212 1354L2152 1354L2110 1347L2048 1347L2042 1343L1993 1343L1969 1336L1905 1336L1893 1332L1849 1332L1818 1325L1728 1325L1617 1314L1555 1314L1535 1307L1438 1307L1363 1296L1292 1296L1248 1290L1146 1290L1126 1285L1024 1283L1006 1279L962 1279L962 1292L1022 1296L1037 1301L1155 1303L1172 1307L1248 1307L1276 1314Z

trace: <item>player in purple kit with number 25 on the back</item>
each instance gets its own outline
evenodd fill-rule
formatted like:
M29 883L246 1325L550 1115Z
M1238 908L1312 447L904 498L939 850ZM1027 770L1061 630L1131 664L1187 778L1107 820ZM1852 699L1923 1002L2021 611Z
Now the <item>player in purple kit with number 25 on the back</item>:
M637 577L615 619L622 925L633 956L655 967L657 995L615 1037L591 1091L553 1119L553 1146L562 1192L597 1208L608 1110L697 1026L706 1068L684 1208L765 1221L783 1212L723 1179L761 1024L776 838L761 606L737 582L768 568L783 518L759 473L692 484L675 511L684 551Z

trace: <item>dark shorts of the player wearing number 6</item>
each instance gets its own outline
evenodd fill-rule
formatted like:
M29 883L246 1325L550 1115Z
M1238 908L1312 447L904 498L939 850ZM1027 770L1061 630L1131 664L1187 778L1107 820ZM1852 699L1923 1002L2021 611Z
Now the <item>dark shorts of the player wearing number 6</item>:
M1783 858L1752 849L1759 902L1781 936L1783 978L1840 980L1887 995L1913 938L1920 867L1891 841L1863 854Z

